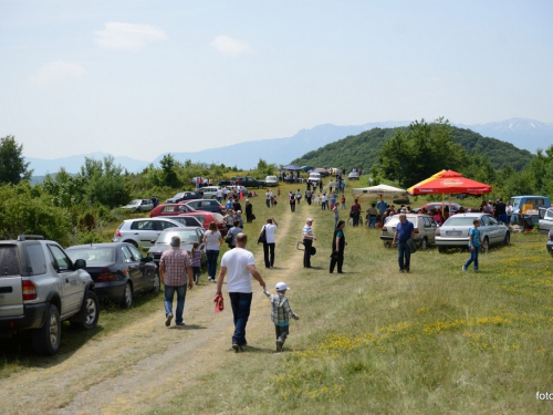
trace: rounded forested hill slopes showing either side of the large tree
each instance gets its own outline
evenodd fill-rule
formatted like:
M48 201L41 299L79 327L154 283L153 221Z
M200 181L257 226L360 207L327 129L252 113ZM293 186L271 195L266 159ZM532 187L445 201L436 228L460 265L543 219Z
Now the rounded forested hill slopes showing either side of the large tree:
M378 163L380 148L398 128L373 128L309 152L302 157L293 159L292 164L346 169L363 167L367 170ZM470 129L452 127L452 135L453 141L460 144L469 155L486 155L494 168L510 165L515 170L520 170L533 157L529 151L517 148L510 143L495 138L482 137Z

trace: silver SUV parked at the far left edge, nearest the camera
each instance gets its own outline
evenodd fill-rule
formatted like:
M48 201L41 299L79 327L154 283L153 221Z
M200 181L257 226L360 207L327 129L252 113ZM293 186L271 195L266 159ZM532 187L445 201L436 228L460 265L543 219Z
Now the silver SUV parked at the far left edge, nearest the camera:
M0 241L0 336L30 331L39 354L55 354L62 321L91 330L100 317L86 261L72 261L63 248L40 236Z

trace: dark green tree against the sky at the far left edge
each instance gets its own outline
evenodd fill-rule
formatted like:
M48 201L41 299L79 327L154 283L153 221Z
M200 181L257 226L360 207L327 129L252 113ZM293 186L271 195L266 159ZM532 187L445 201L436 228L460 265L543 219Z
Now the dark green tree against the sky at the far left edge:
M23 145L18 145L12 135L0 138L0 183L29 181L32 173L23 157Z

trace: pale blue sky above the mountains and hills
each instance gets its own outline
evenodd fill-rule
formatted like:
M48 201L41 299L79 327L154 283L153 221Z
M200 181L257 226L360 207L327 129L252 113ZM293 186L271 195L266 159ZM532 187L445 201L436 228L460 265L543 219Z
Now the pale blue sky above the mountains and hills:
M324 123L553 122L552 15L551 1L0 0L0 136L27 157L152 160Z

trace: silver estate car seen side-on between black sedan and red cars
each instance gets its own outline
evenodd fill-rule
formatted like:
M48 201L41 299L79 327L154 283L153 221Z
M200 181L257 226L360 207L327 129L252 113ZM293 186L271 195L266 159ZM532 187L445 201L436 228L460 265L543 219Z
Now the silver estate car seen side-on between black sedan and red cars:
M140 218L123 220L112 242L128 242L137 248L149 248L166 228L184 228L182 224L165 218Z

